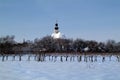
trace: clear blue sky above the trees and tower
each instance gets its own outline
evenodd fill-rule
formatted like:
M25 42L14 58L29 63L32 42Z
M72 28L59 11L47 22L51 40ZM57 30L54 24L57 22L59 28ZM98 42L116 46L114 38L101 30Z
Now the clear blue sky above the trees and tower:
M0 0L0 36L34 40L56 20L67 38L120 41L120 0Z

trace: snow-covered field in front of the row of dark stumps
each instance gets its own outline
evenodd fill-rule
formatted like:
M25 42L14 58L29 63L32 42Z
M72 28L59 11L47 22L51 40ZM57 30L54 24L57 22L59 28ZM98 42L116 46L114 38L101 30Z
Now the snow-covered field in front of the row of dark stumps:
M24 56L25 57L25 56ZM120 80L120 62L116 57L103 62L0 60L0 80ZM33 58L31 58L33 59Z

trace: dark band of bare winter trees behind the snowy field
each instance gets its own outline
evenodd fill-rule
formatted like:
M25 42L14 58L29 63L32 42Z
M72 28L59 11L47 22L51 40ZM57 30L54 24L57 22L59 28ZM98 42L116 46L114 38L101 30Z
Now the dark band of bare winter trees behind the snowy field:
M108 40L97 42L83 39L53 39L51 36L36 38L34 41L15 41L15 36L0 37L0 54L18 54L28 52L47 53L119 53L120 42Z

